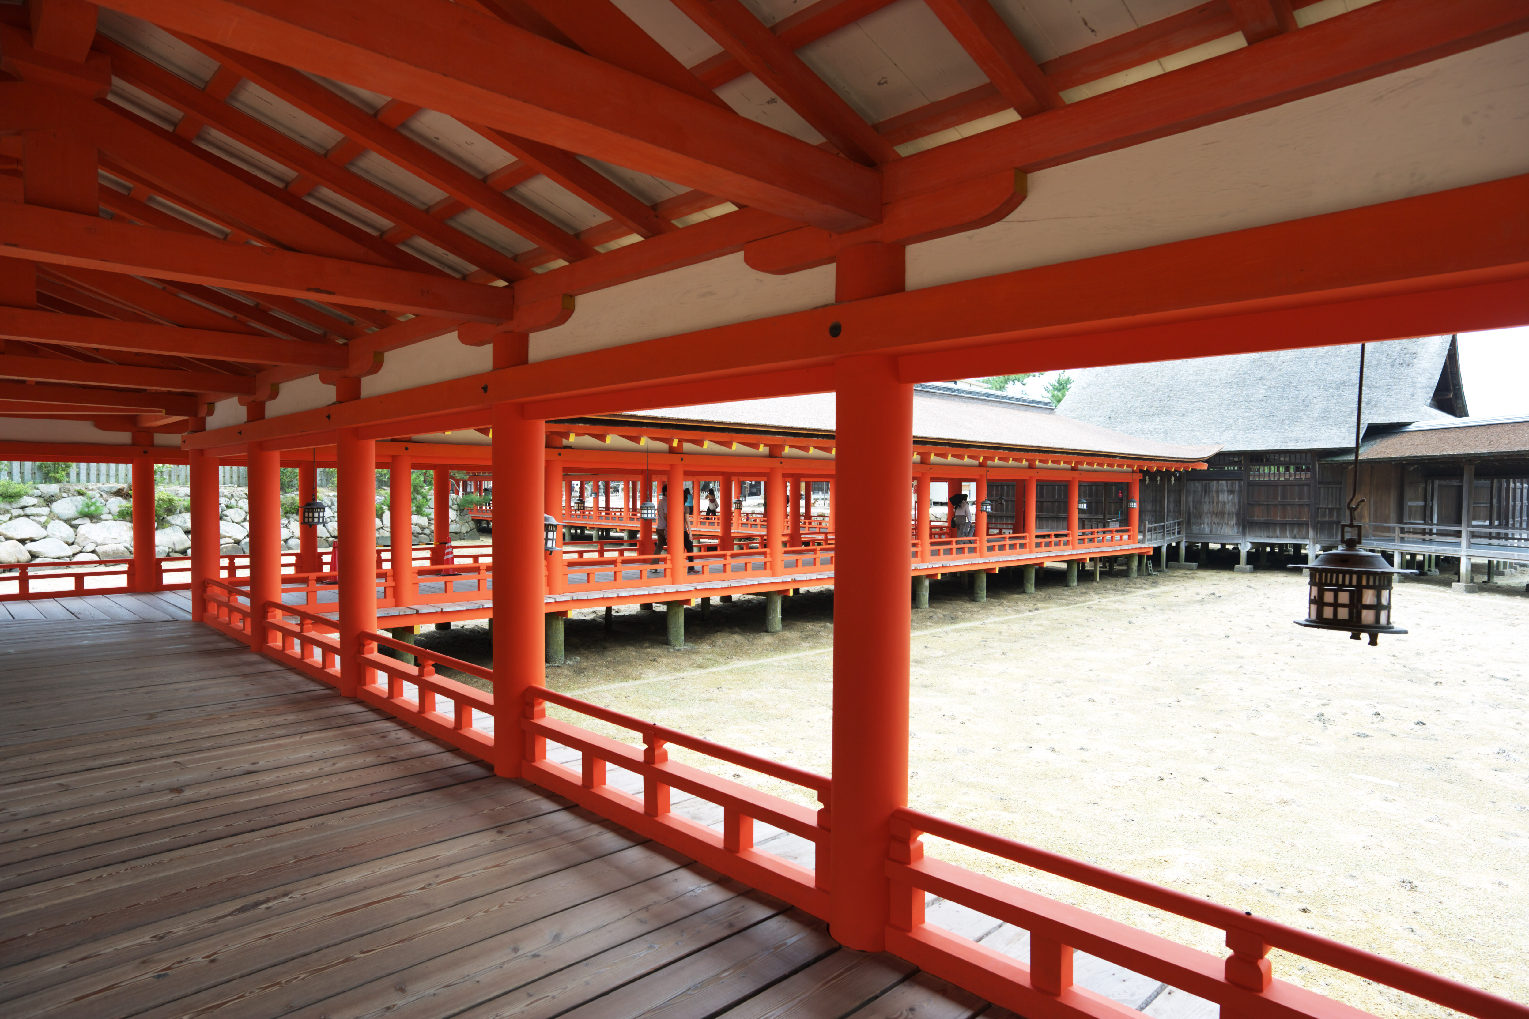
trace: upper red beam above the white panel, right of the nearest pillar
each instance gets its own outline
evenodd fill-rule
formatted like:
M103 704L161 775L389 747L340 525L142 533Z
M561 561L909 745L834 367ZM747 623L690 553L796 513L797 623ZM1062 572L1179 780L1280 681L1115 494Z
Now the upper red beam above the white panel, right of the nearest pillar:
M1027 173L1264 110L1529 31L1521 0L1379 0L1258 46L1139 81L884 168L885 200Z

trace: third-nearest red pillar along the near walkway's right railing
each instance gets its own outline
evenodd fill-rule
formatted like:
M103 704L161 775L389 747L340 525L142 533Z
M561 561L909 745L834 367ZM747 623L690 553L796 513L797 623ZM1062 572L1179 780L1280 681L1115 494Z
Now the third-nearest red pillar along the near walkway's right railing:
M335 443L339 536L339 692L361 689L361 634L378 628L376 442L339 429ZM375 645L373 645L375 646Z

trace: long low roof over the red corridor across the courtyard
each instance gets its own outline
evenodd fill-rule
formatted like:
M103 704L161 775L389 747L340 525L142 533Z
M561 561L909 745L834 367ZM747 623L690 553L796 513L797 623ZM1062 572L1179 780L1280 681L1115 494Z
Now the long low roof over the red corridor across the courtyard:
M832 393L787 396L734 403L671 406L621 416L644 422L696 426L731 425L775 429L787 434L833 434ZM1138 438L1109 428L1053 414L1047 403L1014 397L979 387L930 383L913 390L914 442L1034 449L1044 452L1096 452L1141 460L1196 463L1217 452L1209 443L1179 445Z

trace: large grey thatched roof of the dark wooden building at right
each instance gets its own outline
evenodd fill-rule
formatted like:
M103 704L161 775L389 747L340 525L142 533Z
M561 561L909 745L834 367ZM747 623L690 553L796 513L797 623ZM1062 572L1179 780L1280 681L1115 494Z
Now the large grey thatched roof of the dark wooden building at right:
M1466 414L1451 336L1365 350L1365 428ZM1358 345L1084 368L1058 414L1228 451L1352 448L1358 374Z

